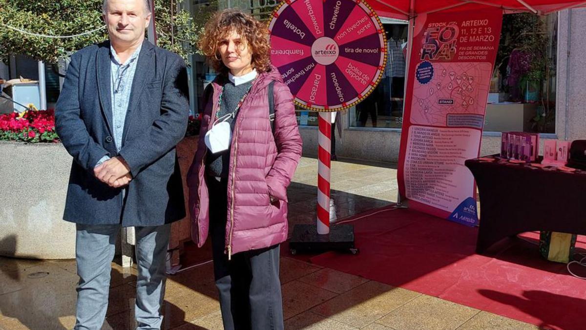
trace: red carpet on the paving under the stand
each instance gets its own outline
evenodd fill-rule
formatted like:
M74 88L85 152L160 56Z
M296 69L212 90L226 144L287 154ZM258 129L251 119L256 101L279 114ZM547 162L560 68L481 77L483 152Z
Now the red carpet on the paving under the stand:
M328 252L311 261L544 328L586 329L586 281L541 258L535 244L507 239L478 255L478 228L411 210L352 224L360 254ZM578 241L586 246L584 237ZM574 272L586 276L580 268Z

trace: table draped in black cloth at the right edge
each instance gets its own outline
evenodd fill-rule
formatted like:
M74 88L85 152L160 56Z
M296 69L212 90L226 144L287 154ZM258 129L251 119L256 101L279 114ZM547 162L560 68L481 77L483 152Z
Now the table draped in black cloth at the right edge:
M466 160L481 203L476 252L526 231L586 235L586 171L573 173L530 164Z

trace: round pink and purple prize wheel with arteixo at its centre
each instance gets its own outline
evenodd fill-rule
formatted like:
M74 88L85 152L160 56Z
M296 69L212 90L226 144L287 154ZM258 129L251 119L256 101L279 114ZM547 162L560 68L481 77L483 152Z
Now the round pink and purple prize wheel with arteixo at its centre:
M339 111L373 92L386 63L386 37L366 2L287 0L272 16L271 62L297 105Z

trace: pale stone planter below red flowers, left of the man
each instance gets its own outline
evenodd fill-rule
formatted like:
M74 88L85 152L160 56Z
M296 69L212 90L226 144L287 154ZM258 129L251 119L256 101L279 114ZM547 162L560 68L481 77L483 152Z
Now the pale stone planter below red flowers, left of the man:
M75 224L63 219L71 156L60 143L0 142L0 255L75 258Z

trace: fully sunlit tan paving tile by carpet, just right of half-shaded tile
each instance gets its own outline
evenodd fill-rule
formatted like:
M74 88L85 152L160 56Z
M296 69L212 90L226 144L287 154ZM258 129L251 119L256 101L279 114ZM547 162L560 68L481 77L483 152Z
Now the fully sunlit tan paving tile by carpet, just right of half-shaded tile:
M376 322L397 330L454 330L478 312L478 309L421 295Z

